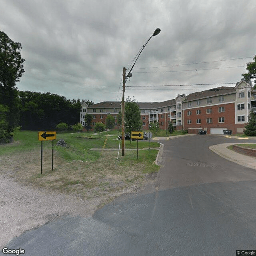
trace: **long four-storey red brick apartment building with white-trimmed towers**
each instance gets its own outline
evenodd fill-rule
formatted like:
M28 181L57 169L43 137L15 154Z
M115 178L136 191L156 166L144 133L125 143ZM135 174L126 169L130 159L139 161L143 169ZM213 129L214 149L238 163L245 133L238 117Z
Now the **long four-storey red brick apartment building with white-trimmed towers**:
M255 94L255 95L254 95ZM165 130L172 121L176 130L188 130L197 134L206 130L208 134L242 133L248 122L250 111L256 112L256 91L252 81L240 81L235 87L218 88L178 94L175 99L164 102L138 102L141 111L142 129L148 130L151 122L159 122ZM84 115L91 114L93 126L96 122L105 123L108 114L114 116L115 127L121 102L100 102L90 106L82 104L80 122L84 125Z

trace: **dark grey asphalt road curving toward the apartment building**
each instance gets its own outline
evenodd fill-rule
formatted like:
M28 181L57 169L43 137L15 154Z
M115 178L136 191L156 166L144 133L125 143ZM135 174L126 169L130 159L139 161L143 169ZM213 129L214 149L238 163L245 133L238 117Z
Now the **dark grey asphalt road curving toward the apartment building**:
M238 141L201 135L160 142L164 166L156 188L121 196L92 218L59 218L7 247L21 247L26 256L233 256L256 250L256 170L208 148Z

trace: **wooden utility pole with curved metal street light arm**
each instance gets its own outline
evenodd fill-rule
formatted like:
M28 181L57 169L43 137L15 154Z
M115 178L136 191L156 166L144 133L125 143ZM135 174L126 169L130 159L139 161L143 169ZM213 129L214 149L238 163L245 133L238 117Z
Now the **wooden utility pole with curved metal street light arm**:
M150 38L148 39L148 41L153 37L156 36L160 33L160 28L156 28L156 30L154 31L154 33L152 34L152 36L150 36ZM138 54L138 57L136 58L134 64L132 65L132 68L134 67L136 61L138 60L142 50L145 48L146 44L148 43L148 41L143 45L140 53ZM126 68L123 68L123 96L122 96L122 156L124 156L124 91L125 91L125 83L127 81L128 78L130 78L132 76L132 68L130 69L129 73L126 76Z

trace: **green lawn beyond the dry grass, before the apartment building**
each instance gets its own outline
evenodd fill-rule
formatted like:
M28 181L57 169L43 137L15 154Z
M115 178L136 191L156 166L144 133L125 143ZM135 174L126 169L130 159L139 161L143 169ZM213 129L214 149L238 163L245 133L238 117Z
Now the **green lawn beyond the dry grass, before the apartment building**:
M102 149L106 136L89 135L88 133L59 133L57 139L54 140L54 150L59 152L65 160L83 160L84 158L93 161L100 157L101 150L90 150L90 148ZM81 137L80 137L81 136ZM82 136L90 136L91 138L82 138ZM67 147L56 146L58 140L63 139L67 143ZM122 143L117 140L117 136L108 136L105 148L122 148ZM158 142L150 142L150 148L158 148ZM38 141L37 131L19 131L14 138L14 143L0 145L0 155L14 154L16 152L24 152L29 150L40 150L41 141ZM43 141L43 149L51 149L52 140ZM125 148L136 149L136 141L125 141ZM148 141L139 140L138 148L148 148ZM142 153L144 154L144 153Z

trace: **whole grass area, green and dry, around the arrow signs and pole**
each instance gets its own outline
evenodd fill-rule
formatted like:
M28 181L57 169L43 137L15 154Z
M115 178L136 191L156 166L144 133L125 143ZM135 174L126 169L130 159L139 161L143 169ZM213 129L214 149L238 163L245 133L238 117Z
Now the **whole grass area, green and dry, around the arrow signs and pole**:
M43 174L40 174L41 142L38 132L20 131L14 143L0 145L0 173L25 185L75 194L80 198L102 198L103 204L125 192L152 182L159 166L153 164L158 150L126 150L125 156L118 151L90 150L102 148L106 136L89 133L58 133L54 140L54 169L52 170L52 141L43 141ZM56 146L64 139L66 147ZM108 136L106 148L118 149L120 141ZM126 141L126 148L136 148L136 141ZM159 147L150 142L150 148ZM138 148L147 148L147 141L138 141Z

